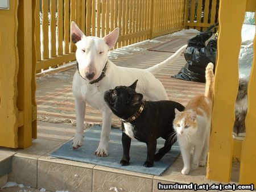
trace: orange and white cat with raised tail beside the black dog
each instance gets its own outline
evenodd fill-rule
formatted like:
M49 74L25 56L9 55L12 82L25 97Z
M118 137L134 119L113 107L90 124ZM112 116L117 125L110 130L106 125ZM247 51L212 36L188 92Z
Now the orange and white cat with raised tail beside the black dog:
M184 162L182 174L188 174L190 169L197 169L198 166L205 166L207 161L214 84L211 62L205 70L205 79L205 94L193 97L183 112L175 109L174 130ZM194 152L190 167L192 149Z

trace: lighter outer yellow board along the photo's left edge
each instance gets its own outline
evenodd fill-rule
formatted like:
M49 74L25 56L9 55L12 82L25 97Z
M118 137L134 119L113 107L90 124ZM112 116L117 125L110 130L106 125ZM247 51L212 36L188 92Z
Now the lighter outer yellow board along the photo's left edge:
M18 147L18 3L11 1L9 10L0 10L0 146L11 148Z

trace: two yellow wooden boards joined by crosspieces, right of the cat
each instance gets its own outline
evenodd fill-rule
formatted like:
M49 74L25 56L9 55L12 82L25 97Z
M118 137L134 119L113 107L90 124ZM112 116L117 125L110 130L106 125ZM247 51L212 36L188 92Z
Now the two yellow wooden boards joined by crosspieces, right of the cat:
M214 85L212 133L207 166L207 178L229 182L232 156L241 157L240 183L256 185L256 38L254 59L248 86L246 137L233 140L234 106L238 91L238 56L241 48L241 28L245 11L256 10L255 0L220 2L220 34ZM236 19L234 19L236 18ZM234 152L234 153L233 153Z

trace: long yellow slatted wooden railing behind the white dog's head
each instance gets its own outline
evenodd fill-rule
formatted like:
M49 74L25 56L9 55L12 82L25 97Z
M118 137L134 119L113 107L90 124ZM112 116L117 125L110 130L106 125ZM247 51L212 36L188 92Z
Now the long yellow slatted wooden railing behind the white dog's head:
M119 27L118 48L185 28L184 10L185 0L38 0L36 72L75 60L72 20L86 36L104 37Z

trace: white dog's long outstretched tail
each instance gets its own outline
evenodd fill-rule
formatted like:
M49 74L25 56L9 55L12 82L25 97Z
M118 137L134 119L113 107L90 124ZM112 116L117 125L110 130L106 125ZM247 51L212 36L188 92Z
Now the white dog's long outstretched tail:
M150 68L147 68L146 70L148 70L150 73L155 74L157 72L159 72L160 69L162 69L164 66L171 64L172 62L174 62L179 56L180 54L184 51L185 48L187 48L188 45L183 45L181 48L179 48L174 55L172 55L171 57L169 57L168 59L164 60L163 62L160 62L157 65L151 66Z

